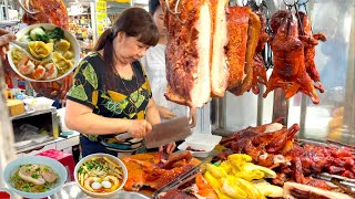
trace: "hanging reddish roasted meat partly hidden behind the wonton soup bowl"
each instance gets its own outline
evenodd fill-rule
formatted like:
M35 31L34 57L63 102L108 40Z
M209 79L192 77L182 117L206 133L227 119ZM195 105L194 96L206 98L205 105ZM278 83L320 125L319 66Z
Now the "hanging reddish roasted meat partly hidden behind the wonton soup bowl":
M20 0L21 1L21 0ZM22 3L22 2L21 2ZM63 0L26 0L27 10L37 10L38 13L26 13L23 22L27 24L52 23L65 30L69 28L69 17ZM65 98L72 85L73 75L70 74L55 82L34 83L33 90L48 98Z

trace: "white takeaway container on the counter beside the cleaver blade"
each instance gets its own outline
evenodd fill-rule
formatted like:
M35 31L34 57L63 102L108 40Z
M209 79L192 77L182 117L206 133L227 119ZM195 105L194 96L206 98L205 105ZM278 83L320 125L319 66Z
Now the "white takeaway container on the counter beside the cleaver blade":
M222 136L211 135L211 134L192 134L185 138L186 146L196 149L211 151L215 145L217 145L222 139Z

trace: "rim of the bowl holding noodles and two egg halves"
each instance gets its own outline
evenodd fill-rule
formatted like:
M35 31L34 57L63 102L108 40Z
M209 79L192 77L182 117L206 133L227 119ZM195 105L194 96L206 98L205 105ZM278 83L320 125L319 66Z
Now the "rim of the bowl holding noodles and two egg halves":
M123 181L122 184L120 185L120 187L112 191L112 192L104 192L104 193L100 193L100 192L91 192L91 191L88 191L87 189L84 189L83 187L81 187L79 180L78 180L78 169L80 168L80 166L82 164L84 164L87 160L93 158L93 157L108 157L110 158L111 160L113 160L114 163L116 163L118 165L120 165L122 167L122 171L123 171ZM75 166L74 168L74 179L75 179L75 182L78 184L78 186L80 187L80 189L87 193L88 196L92 197L92 198L110 198L110 197L113 197L115 196L124 186L126 179L128 179L128 170L126 170L126 167L125 165L123 164L123 161L121 161L118 157L114 157L112 155L109 155L109 154L92 154L92 155L89 155L84 158L82 158Z

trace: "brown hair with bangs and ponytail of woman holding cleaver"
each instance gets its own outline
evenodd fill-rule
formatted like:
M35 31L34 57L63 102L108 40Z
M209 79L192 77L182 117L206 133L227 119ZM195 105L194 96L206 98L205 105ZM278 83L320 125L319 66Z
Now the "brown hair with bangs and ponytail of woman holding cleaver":
M129 8L125 9L111 29L105 30L99 38L94 51L103 50L103 60L108 73L105 77L108 80L108 86L114 88L114 75L115 75L115 52L113 46L113 39L119 32L124 32L125 36L134 36L139 42L145 45L156 45L159 41L158 28L151 18L151 15L142 8Z

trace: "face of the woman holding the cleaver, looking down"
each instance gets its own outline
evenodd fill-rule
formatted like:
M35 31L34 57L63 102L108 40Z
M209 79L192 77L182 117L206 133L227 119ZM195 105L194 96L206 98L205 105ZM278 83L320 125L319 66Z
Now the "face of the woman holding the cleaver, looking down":
M113 41L116 59L122 64L132 63L144 56L150 45L139 42L135 36L125 36L125 33L119 32Z

